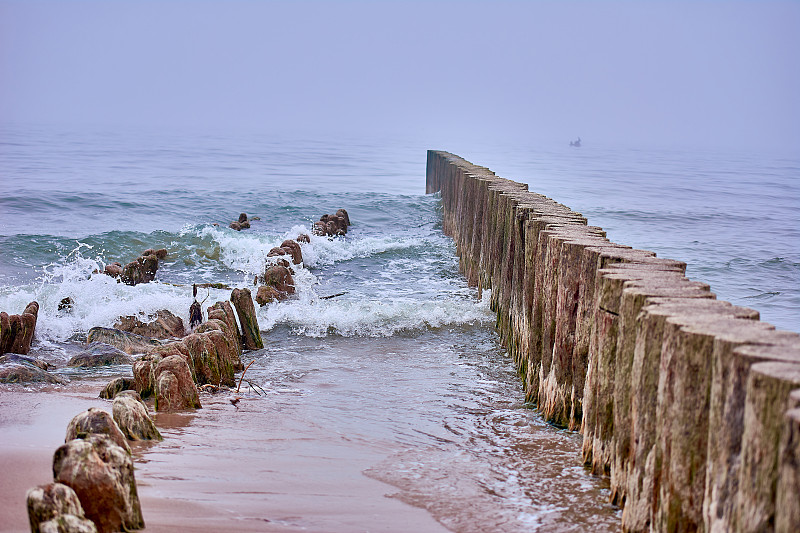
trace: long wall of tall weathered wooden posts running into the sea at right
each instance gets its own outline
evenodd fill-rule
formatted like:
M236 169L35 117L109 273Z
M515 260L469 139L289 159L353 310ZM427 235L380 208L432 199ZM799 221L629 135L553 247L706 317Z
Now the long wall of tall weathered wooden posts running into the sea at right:
M582 433L625 531L800 531L800 335L456 155L428 151L426 192L527 400Z

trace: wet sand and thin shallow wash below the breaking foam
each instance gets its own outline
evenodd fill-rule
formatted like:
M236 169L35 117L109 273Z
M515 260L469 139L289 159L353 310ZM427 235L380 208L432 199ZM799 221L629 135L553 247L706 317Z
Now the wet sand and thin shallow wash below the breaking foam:
M525 408L492 332L389 338L265 335L248 379L156 413L132 443L146 531L616 531L579 436ZM108 376L0 386L0 531L27 531L25 492L52 479L69 420ZM152 410L152 409L151 409Z

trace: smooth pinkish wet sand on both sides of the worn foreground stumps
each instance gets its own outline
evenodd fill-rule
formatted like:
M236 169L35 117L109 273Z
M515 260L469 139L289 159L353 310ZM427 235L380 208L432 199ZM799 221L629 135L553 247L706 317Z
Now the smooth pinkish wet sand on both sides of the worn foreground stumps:
M110 411L97 397L104 383L0 391L0 531L29 531L25 493L52 482L53 453L73 416ZM203 395L196 413L157 414L164 441L131 443L145 531L447 531L361 474L374 457L310 441L289 456L281 442L259 453L270 443L254 441L248 428L271 417L240 423L253 410L248 398L237 409L231 397Z

